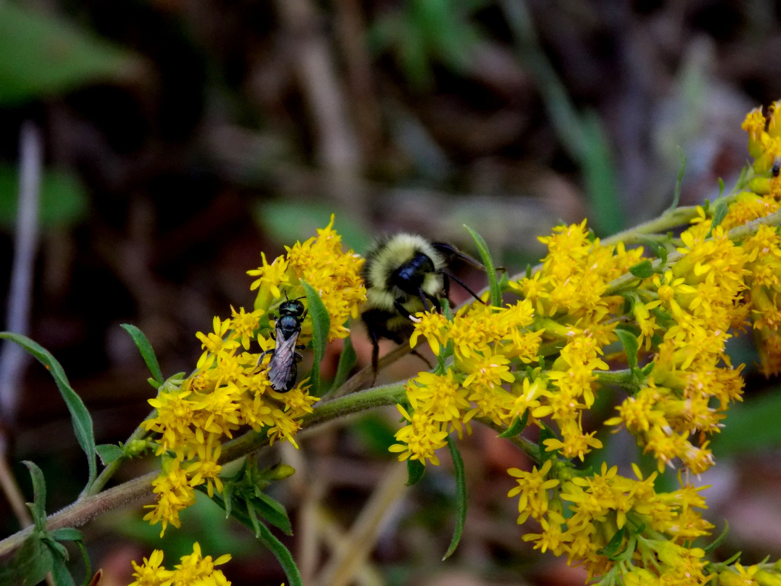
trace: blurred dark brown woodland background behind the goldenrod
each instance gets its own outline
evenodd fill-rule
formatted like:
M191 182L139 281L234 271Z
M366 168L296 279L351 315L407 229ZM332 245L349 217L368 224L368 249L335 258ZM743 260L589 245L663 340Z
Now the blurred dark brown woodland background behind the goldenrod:
M12 270L20 129L31 121L44 171L28 334L65 367L98 443L120 441L154 392L120 323L141 327L166 375L191 370L194 332L230 304L251 306L244 271L259 252L284 252L331 212L357 252L402 228L472 250L469 223L512 273L540 258L537 236L560 221L588 216L607 235L658 215L672 199L679 147L682 204L713 198L718 178L731 187L747 159L745 113L781 98L779 51L781 9L765 0L6 0L0 298ZM365 363L359 327L353 341ZM777 381L757 376L749 337L730 352L748 363L747 401L701 482L713 485L717 531L724 517L732 528L719 551L742 550L751 563L781 555L781 399ZM383 377L420 366L408 359ZM28 497L20 461L44 469L55 511L83 486L84 456L45 370L30 363L12 375L3 378L8 459ZM604 392L595 420L618 399ZM387 453L397 419L393 409L369 413L304 438L301 451L265 456L298 469L273 495L294 520L296 536L284 541L308 584L583 583L522 542L505 470L530 464L483 428L462 442L469 518L458 552L441 563L455 513L450 463L398 490ZM637 458L628 437L603 439L592 463L626 468ZM116 479L152 466L127 464ZM86 527L105 586L129 583L129 560L155 547L173 565L194 539L206 554L234 554L225 570L237 586L284 580L208 500L162 541L141 515L137 503ZM0 499L0 531L17 529ZM331 552L356 538L369 555L335 575Z

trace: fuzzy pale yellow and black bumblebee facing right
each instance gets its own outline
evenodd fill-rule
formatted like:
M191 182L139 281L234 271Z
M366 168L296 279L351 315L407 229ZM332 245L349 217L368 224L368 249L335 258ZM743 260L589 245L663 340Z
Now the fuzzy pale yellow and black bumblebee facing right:
M394 234L381 238L366 253L363 280L366 305L362 312L372 341L372 369L376 375L380 338L403 343L413 331L415 313L440 311L440 299L449 300L454 280L478 301L478 295L449 272L454 259L485 270L483 265L455 247L430 242L416 234Z

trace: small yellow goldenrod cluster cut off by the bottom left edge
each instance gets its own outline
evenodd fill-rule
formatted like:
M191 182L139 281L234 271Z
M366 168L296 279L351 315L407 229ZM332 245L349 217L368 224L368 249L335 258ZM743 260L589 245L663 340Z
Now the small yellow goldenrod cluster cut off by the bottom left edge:
M173 566L174 570L166 570L162 564L162 551L155 549L152 555L144 558L144 563L133 562L133 577L135 581L130 586L230 586L221 566L230 560L230 554L219 556L201 556L201 546L198 541L193 544L193 552L182 556L180 564Z

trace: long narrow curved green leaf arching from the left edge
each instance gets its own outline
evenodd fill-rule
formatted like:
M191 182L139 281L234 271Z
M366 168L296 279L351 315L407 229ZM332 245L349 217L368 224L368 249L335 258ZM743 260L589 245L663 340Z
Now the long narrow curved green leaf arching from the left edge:
M62 370L62 366L51 352L48 352L41 345L38 345L34 341L20 334L12 334L11 332L0 332L0 338L6 338L22 348L30 352L35 358L46 367L46 370L54 377L54 381L59 388L59 393L62 398L65 399L65 403L70 411L70 417L73 420L73 431L76 432L76 438L79 441L79 445L87 454L87 462L90 466L90 477L87 482L87 486L95 481L95 476L98 472L97 459L95 458L95 434L92 431L92 417L90 412L87 411L87 407L84 406L84 402L80 396L70 388L68 383L68 377L65 375L65 370Z

